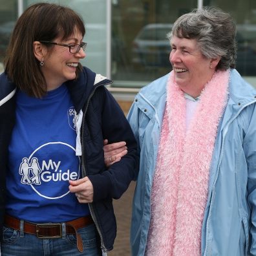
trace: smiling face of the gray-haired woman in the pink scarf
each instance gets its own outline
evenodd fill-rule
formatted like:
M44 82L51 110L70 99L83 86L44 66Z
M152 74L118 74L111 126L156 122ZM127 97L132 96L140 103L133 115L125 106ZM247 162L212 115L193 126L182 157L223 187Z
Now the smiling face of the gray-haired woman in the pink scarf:
M187 94L197 97L206 83L211 80L218 59L202 55L196 39L171 37L170 62L175 73L175 81Z

